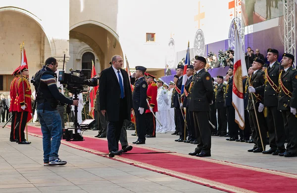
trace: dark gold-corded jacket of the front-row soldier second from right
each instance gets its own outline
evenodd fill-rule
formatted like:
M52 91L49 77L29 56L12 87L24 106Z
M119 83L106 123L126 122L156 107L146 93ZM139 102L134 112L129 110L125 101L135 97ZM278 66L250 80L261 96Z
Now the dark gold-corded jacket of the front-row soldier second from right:
M281 68L280 68L281 67ZM270 66L267 67L267 73L268 76L271 78L274 84L278 87L279 82L279 69L284 69L282 66L280 66L280 63L276 61L272 68ZM277 107L278 106L278 97L276 91L272 88L268 80L266 83L260 87L255 88L256 92L262 92L264 91L264 98L262 99L262 104L264 104L265 107Z

